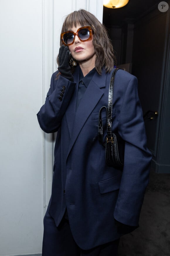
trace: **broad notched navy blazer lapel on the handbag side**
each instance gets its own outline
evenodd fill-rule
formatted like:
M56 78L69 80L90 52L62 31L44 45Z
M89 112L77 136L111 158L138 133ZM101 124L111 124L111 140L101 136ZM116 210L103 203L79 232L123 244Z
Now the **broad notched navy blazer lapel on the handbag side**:
M77 111L75 112L75 118L72 126L72 134L70 139L70 145L69 145L69 151L68 155L82 129L84 126L84 123L86 122L87 118L93 111L94 107L100 100L100 98L103 95L103 91L101 90L102 87L106 87L106 77L107 74L103 72L102 75L98 75L96 72L89 83L89 86L86 89L86 92L81 99L81 102L79 104L79 107L77 108ZM77 96L77 94L76 94ZM75 100L76 101L76 100ZM76 104L74 106L74 109L76 108ZM67 113L68 114L68 113ZM67 155L67 157L68 157Z

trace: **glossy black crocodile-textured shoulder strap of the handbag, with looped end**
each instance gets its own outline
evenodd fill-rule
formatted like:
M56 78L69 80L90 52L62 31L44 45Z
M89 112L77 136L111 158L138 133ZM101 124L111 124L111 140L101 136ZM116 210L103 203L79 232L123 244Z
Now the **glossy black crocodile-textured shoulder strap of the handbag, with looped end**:
M113 88L114 88L114 81L115 81L115 74L118 71L118 69L114 69L111 79L110 79L110 85L109 85L109 94L108 94L108 108L105 106L101 107L98 114L98 140L100 144L102 144L104 147L106 146L105 143L103 143L103 122L101 117L101 111L103 108L106 109L106 122L107 122L107 134L111 137L112 132L112 104L113 104Z

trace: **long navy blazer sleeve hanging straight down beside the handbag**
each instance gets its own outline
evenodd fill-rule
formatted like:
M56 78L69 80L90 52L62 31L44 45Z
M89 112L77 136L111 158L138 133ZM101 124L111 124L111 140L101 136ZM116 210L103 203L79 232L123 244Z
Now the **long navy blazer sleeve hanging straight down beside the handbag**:
M118 132L125 140L125 158L114 218L125 225L138 226L152 154L147 149L137 78L134 76L131 76L124 94Z

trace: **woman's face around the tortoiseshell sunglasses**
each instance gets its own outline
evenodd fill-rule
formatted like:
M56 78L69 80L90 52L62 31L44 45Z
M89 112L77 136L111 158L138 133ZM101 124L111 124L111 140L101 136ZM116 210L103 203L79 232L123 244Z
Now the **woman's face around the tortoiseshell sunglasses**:
M76 33L77 29L80 27L81 26L72 27L70 30ZM68 47L72 57L77 60L79 64L88 62L90 65L95 66L96 54L93 46L93 36L89 41L82 42L76 35L74 43Z

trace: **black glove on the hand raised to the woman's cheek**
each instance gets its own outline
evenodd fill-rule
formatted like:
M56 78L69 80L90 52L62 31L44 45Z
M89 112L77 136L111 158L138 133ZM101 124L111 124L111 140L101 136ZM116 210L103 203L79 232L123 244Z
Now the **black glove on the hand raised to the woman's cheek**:
M60 47L59 55L58 55L58 60L59 60L58 71L61 73L62 77L65 77L68 80L73 82L73 75L71 72L71 67L69 65L69 56L70 56L70 51L68 47L63 44Z

